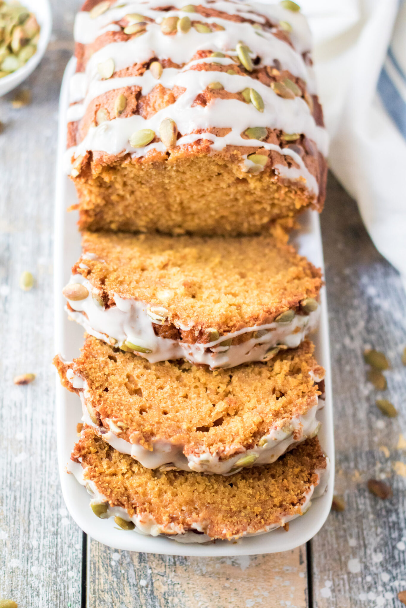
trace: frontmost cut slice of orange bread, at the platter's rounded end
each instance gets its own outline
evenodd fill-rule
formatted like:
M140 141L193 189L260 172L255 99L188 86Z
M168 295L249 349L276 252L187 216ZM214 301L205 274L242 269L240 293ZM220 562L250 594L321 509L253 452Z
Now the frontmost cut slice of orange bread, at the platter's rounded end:
M316 437L271 465L229 477L145 469L86 426L71 458L68 468L93 494L96 515L115 516L124 530L189 542L237 539L286 525L306 512L316 486L324 491L328 473ZM185 538L189 531L197 534Z

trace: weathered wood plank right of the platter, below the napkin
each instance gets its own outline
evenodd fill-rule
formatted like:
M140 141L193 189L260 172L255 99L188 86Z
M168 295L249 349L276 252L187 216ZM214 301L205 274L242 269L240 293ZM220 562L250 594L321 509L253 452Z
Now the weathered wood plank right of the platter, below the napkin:
M312 542L313 595L318 608L399 606L406 589L405 452L397 449L406 429L406 297L396 271L374 249L355 203L334 179L321 218L329 303L336 491L346 510L331 513ZM406 238L406 237L405 237ZM366 346L387 354L388 390L366 382ZM375 399L390 399L398 418L385 418ZM405 434L406 435L406 434ZM399 468L401 474L394 472ZM385 478L391 500L368 492L369 478Z

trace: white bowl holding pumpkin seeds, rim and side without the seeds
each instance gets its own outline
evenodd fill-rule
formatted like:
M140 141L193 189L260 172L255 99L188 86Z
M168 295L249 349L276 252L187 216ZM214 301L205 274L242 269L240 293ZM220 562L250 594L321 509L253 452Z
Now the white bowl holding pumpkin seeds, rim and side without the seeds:
M52 30L52 13L49 0L21 0L21 4L35 15L41 27L40 40L38 40L37 52L27 61L24 66L12 72L4 78L0 78L0 97L21 85L23 80L32 74L44 56L49 43Z

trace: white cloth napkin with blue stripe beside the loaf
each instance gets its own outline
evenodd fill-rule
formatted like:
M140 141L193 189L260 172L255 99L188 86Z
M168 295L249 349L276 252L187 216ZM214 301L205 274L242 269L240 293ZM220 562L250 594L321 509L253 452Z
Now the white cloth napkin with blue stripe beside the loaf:
M406 286L406 1L298 3L313 33L332 171Z

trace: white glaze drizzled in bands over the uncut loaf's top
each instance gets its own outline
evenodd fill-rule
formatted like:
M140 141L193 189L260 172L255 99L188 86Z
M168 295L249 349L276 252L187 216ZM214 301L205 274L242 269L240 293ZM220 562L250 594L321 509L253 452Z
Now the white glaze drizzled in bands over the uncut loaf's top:
M89 13L79 13L75 25L75 39L82 43L93 41L97 35L100 35L102 30L105 31L109 27L109 22L119 20L131 12L138 12L149 16L155 19L155 22L147 24L147 32L144 35L126 42L107 44L93 54L86 64L85 77L87 86L85 87L83 78L78 78L77 75L74 77L75 80L71 87L72 102L79 101L80 95L83 94L85 88L86 95L83 95L85 97L83 103L75 103L75 105L71 106L69 109L69 120L79 120L83 116L86 106L91 99L102 92L111 91L121 86L140 85L142 87L142 94L145 95L157 84L157 81L153 80L149 71L145 72L142 77L113 78L107 81L100 81L97 66L106 59L113 58L116 71L131 66L138 61L149 61L152 57L158 57L159 59L171 58L175 63L183 64L184 61L190 61L199 49L226 51L228 54L235 55L236 52L230 51L230 49L235 49L236 44L240 40L243 40L250 47L253 57L257 55L261 57L259 66L271 65L273 60L277 58L281 62L282 69L289 69L291 73L303 78L307 82L308 91L313 91L312 70L309 66L306 66L299 54L304 50L309 50L310 46L306 21L302 15L286 11L278 5L271 5L271 7L258 5L256 7L263 14L269 15L273 21L278 22L279 19L284 19L292 23L292 41L296 47L296 50L294 50L289 44L279 40L269 31L261 32L262 37L258 36L257 30L247 22L237 23L218 18L205 19L201 15L198 15L198 13L194 13L194 17L198 21L215 21L217 24L225 27L225 30L198 34L192 28L188 33L166 36L161 32L159 26L162 19L171 15L182 16L184 14L179 10L183 2L178 1L173 4L177 7L177 10L163 12L153 10L153 7L161 5L161 2L158 2L158 0L144 3L127 3L119 9L113 8L108 10L97 19L91 19ZM244 6L234 2L206 4L203 1L202 4L214 9L226 10L226 12L231 14L239 13L246 16L251 10L251 7L248 5ZM194 17L192 15L192 18ZM250 13L250 17L261 22L260 16L255 18ZM114 29L116 27L114 26ZM198 63L202 63L202 61ZM221 61L220 58L219 63L225 62ZM184 137L178 140L177 146L203 139L201 134L192 134L192 131L208 130L212 127L231 128L230 133L225 137L205 134L204 139L211 142L210 147L212 151L221 151L227 145L250 145L253 147L263 147L267 150L277 151L282 155L292 157L293 161L299 165L299 169L281 166L279 174L288 179L302 182L310 192L317 196L317 180L307 170L299 154L296 154L290 148L280 148L275 144L247 140L240 136L250 126L267 126L268 128L280 129L286 133L304 133L317 143L318 149L326 156L326 131L315 124L306 102L299 97L293 100L278 97L271 88L262 85L257 80L253 80L250 76L232 76L226 74L226 72L215 72L215 74L213 72L200 72L191 70L189 67L186 65L181 70L173 68L165 69L159 81L167 88L173 88L175 85L186 88L186 91L178 97L175 103L156 112L148 120L136 115L109 120L97 127L91 126L85 139L79 145L69 150L70 157L72 157L72 154L74 158L83 156L88 150L103 151L113 156L130 153L132 157L145 156L150 150L164 153L166 148L164 148L161 142L151 143L135 150L135 148L131 147L129 138L132 133L142 128L149 128L155 131L155 133L159 133L161 121L164 118L172 118L177 123L178 131L185 134ZM226 91L230 92L242 91L242 89L252 85L264 99L264 112L257 111L252 104L245 104L239 100L223 100L219 98L212 100L205 108L199 105L192 108L192 103L197 95L213 80L222 83ZM241 170L243 172L250 171L257 173L258 171L262 171L263 167L262 165L253 165L250 161L247 162L245 155L242 158Z

